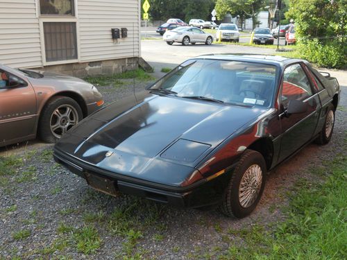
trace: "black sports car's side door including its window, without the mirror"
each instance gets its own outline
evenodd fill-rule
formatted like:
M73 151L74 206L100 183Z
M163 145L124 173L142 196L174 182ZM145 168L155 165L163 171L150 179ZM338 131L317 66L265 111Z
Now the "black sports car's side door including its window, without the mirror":
M282 139L279 161L282 161L312 139L321 103L300 63L285 68L280 93ZM286 114L288 103L293 99L303 101L307 105L307 111Z

